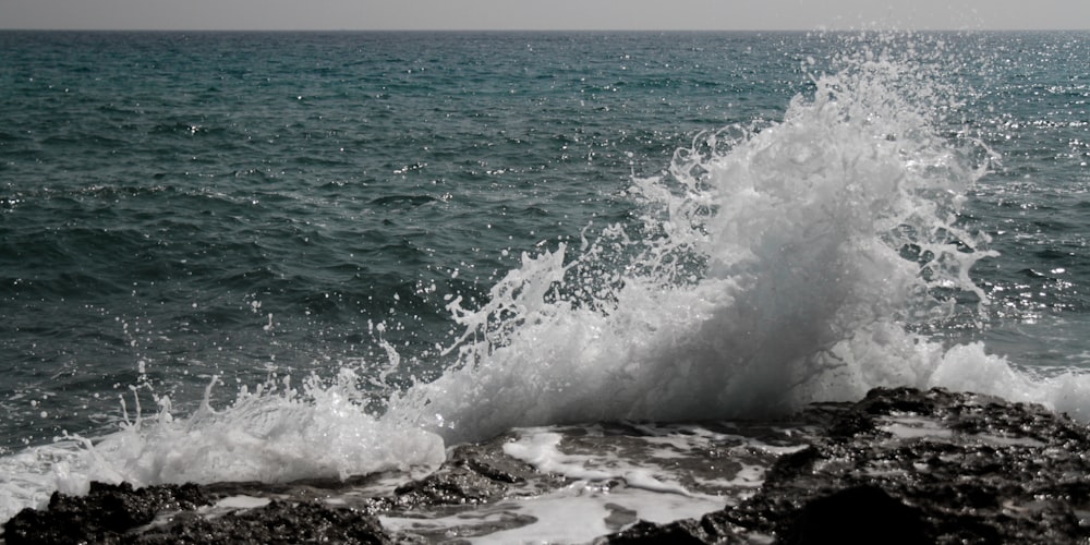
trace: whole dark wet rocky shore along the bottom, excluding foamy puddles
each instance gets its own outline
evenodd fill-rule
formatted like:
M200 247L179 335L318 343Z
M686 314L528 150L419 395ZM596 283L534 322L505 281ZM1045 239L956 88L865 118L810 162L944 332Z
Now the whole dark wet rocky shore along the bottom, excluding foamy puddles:
M608 531L593 541L1090 542L1090 433L1041 407L941 389L876 389L855 403L818 403L783 422L748 426L776 429L797 445L751 449L744 464L731 459L741 450L713 445L701 449L703 459L676 462L705 476L714 468L734 467L736 475L739 467L760 467L762 480L746 494L725 498L722 509L702 517L667 523L645 522L616 507L602 521ZM583 448L603 448L650 433L641 429L619 425L592 447L578 434L565 436L558 448L579 449L581 440ZM467 513L574 483L509 456L504 445L512 440L508 435L457 447L443 468L419 479L379 474L343 482L138 489L96 483L86 496L55 494L46 508L23 510L4 525L3 540L10 545L469 543L534 520L518 512ZM623 485L614 480L598 486ZM477 522L428 522L436 519Z

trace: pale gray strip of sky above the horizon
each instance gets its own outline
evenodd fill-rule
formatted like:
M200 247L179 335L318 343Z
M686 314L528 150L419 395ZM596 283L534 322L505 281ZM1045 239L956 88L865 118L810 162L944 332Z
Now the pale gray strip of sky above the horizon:
M0 0L0 28L1090 29L1090 0Z

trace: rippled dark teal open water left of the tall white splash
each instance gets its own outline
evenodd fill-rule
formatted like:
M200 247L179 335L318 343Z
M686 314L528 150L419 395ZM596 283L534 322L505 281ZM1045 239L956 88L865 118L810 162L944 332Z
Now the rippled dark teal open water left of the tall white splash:
M141 361L192 401L371 355L368 324L426 351L444 294L807 83L756 35L3 38L9 448L109 420Z

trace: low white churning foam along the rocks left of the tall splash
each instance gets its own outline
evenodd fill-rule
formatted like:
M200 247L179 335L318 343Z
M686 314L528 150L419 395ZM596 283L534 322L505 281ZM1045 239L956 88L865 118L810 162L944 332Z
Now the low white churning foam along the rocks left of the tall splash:
M95 441L77 438L2 458L0 519L44 504L55 489L85 494L92 481L289 482L426 472L443 462L438 436L376 419L359 396L348 372L322 387L312 378L299 389L244 389L221 411L206 404L185 419L137 416Z

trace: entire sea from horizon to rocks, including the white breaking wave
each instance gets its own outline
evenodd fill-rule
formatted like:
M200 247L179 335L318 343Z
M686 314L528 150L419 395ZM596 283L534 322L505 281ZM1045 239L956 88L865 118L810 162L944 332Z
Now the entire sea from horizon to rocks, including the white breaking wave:
M875 386L1090 421L1088 38L0 32L0 520Z

